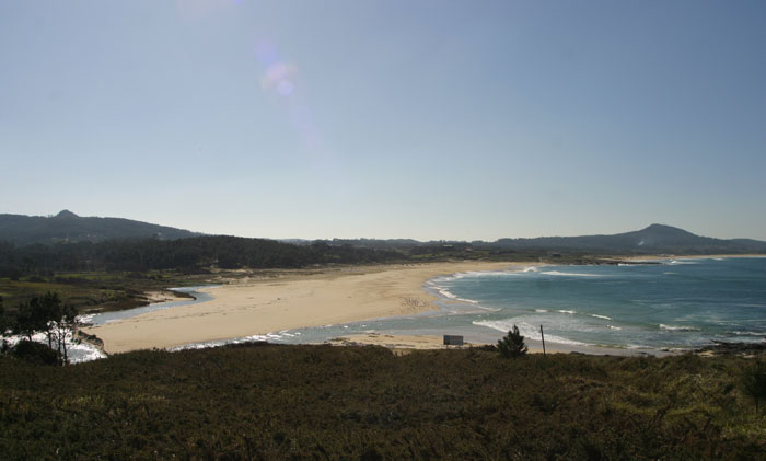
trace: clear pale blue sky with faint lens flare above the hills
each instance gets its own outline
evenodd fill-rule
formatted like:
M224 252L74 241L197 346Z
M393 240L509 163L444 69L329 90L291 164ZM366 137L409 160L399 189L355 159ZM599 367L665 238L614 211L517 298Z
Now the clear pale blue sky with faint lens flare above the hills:
M0 212L766 240L766 2L0 0Z

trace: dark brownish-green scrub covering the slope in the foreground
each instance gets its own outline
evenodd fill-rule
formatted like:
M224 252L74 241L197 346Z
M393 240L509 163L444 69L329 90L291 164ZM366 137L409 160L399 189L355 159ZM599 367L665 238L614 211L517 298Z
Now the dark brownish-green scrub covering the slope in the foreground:
M752 360L750 361L752 362ZM756 459L748 360L378 347L0 358L9 459Z

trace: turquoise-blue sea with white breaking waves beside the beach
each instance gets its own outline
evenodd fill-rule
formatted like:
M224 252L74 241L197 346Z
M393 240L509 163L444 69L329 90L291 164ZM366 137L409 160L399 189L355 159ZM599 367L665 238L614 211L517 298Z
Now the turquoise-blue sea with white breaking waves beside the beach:
M622 348L689 348L766 338L766 258L668 260L619 266L535 266L430 280L442 310L275 332L322 342L363 332L463 334L491 343L512 325L527 338Z

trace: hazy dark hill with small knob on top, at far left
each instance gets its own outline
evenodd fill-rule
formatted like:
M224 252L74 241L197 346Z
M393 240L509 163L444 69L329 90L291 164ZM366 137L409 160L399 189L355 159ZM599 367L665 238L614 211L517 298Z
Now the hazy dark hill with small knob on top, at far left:
M123 218L81 218L69 210L51 217L0 215L0 241L20 246L113 239L176 240L196 235L201 234Z

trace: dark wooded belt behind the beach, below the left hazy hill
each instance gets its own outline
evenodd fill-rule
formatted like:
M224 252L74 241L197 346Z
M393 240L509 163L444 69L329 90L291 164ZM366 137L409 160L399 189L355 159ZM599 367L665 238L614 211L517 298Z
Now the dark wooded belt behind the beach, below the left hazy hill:
M381 263L404 257L392 250L329 245L324 242L295 245L224 235L27 246L0 242L0 277L76 270L199 270L210 266L227 269L297 268L330 263Z

